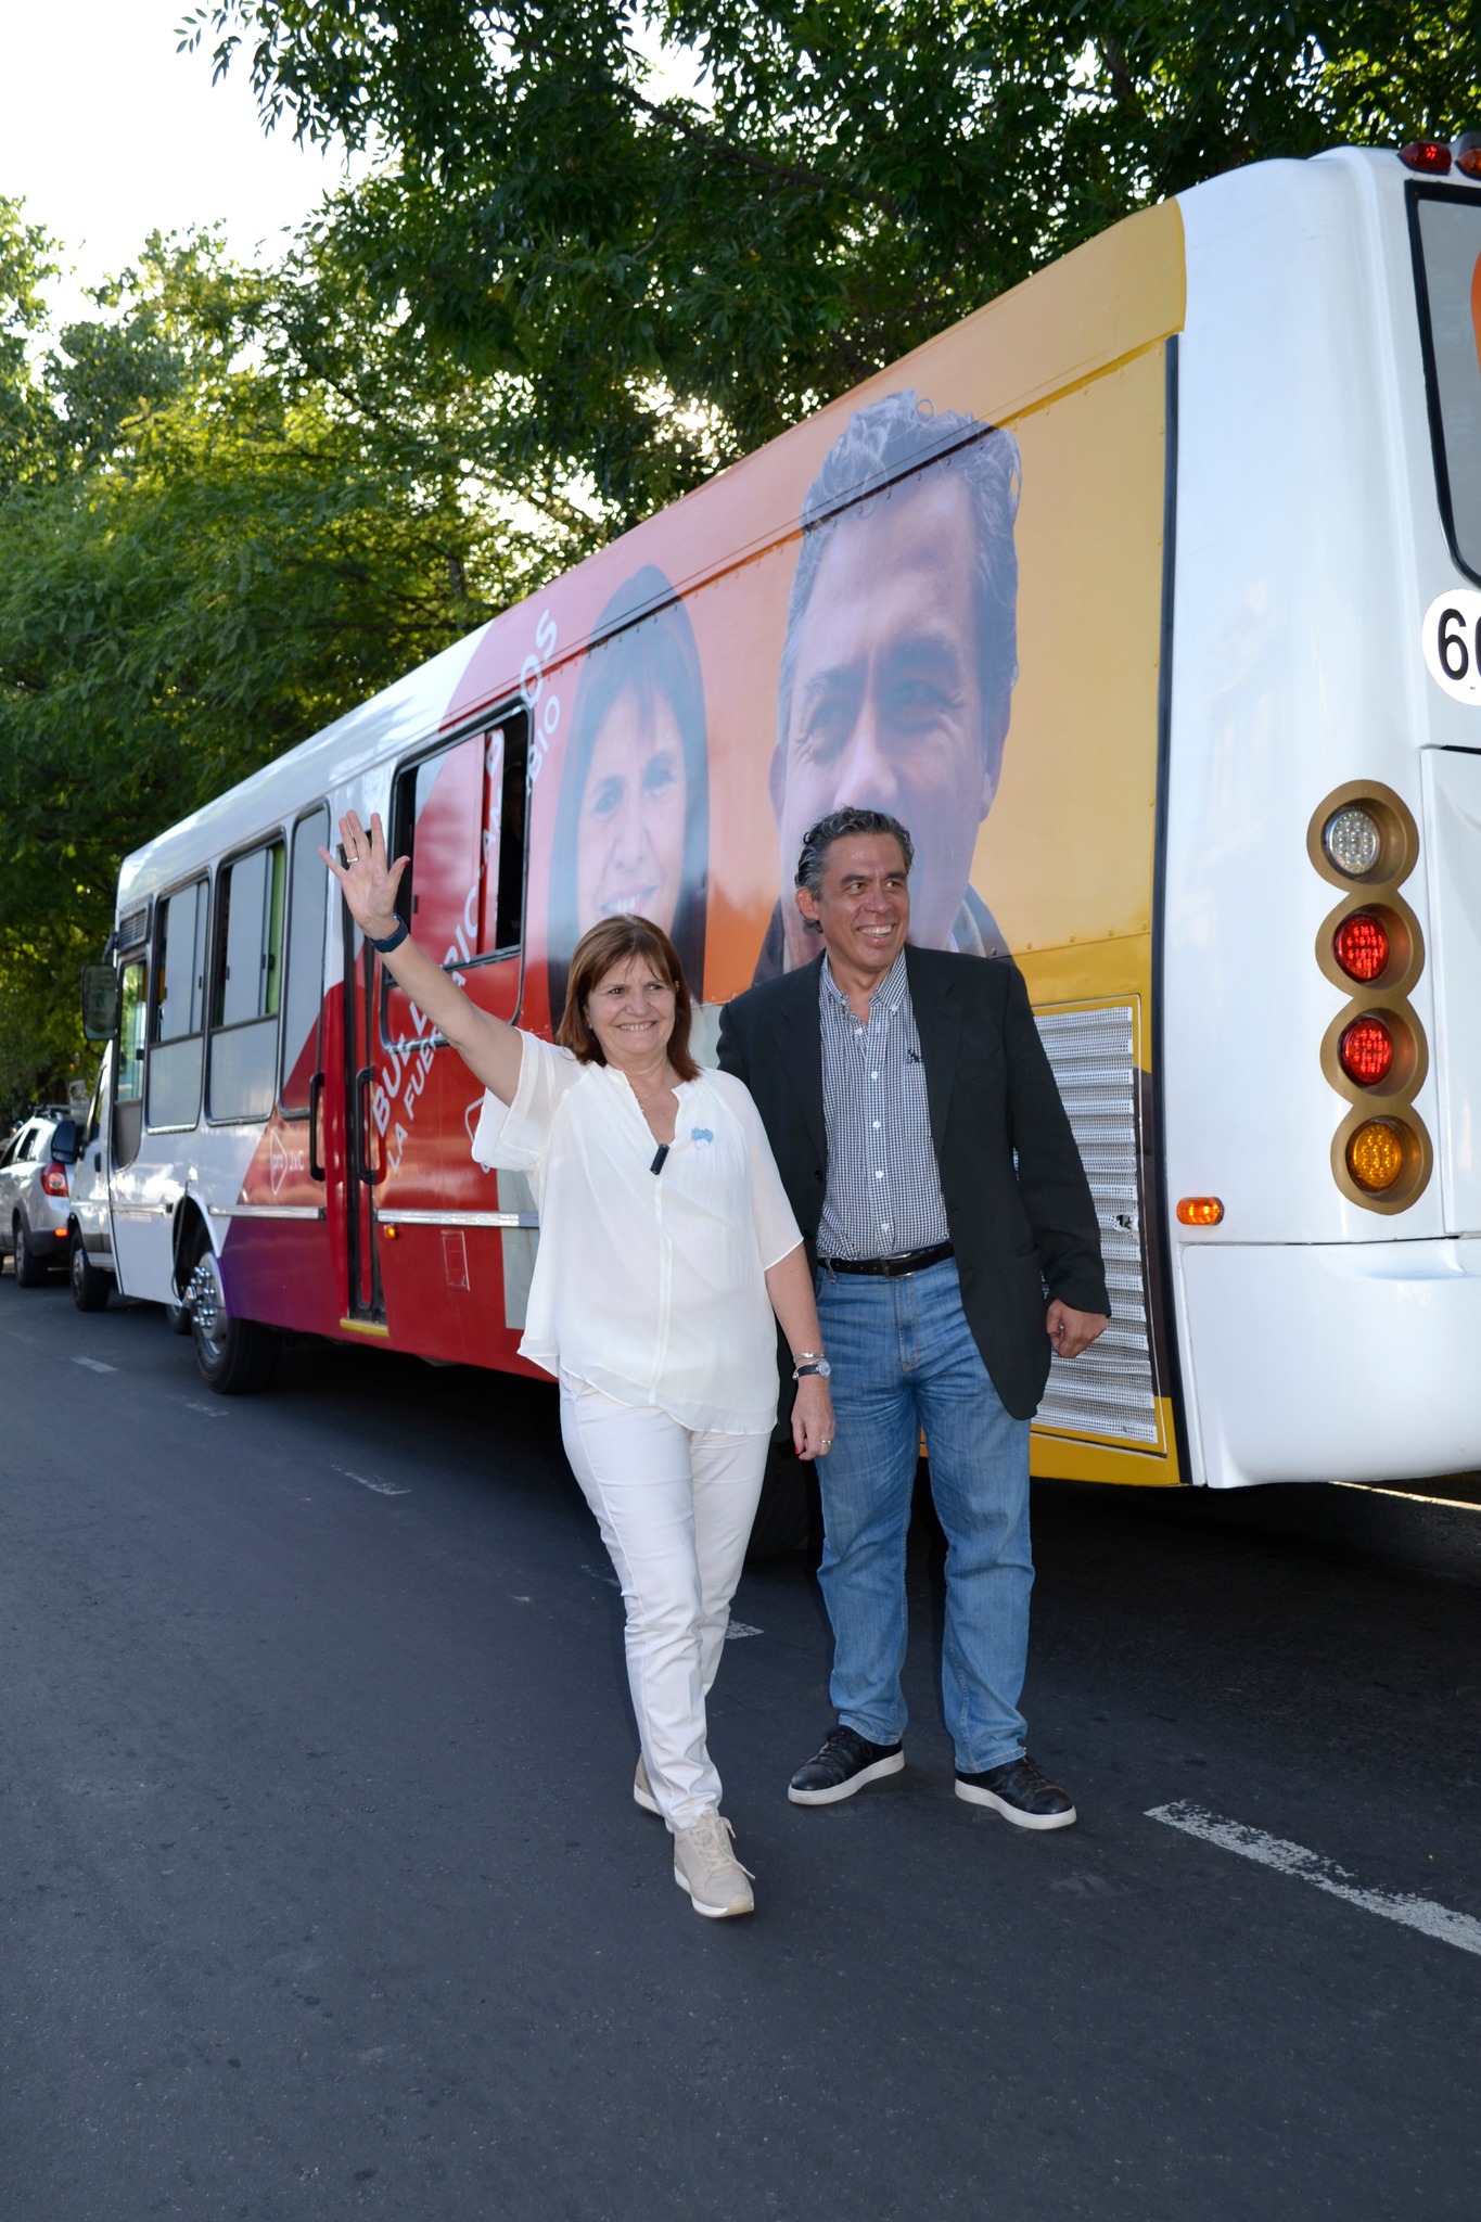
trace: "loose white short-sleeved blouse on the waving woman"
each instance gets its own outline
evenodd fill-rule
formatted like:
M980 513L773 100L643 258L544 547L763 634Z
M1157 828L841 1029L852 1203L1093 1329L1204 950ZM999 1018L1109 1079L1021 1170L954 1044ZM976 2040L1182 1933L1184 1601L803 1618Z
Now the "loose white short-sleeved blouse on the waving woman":
M619 1071L520 1040L515 1100L486 1091L473 1135L480 1164L528 1173L540 1209L520 1355L679 1427L766 1433L777 1329L764 1275L802 1235L750 1093L731 1073L684 1080L655 1173Z

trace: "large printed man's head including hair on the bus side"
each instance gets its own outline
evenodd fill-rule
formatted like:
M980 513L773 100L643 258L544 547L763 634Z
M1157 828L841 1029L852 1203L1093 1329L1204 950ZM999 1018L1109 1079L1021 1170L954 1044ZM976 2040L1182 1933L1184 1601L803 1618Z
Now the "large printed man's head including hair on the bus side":
M921 449L944 444L950 462L921 471ZM859 482L879 491L848 504ZM790 889L819 818L888 811L917 844L910 940L926 949L1004 947L968 875L1008 729L1015 502L1008 433L973 440L968 420L926 416L904 393L853 418L804 507L806 527L808 507L844 504L810 527L819 547L804 531L793 587L773 758L779 880ZM782 969L817 955L786 898L777 924Z

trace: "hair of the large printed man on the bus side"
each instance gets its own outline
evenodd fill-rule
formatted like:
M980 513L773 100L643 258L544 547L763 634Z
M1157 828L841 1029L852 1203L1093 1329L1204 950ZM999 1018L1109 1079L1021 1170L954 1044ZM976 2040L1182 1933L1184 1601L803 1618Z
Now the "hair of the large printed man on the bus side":
M915 391L888 393L857 409L822 460L802 504L802 551L786 607L786 644L777 682L777 744L786 762L802 618L837 524L870 516L890 489L910 491L926 469L953 473L970 507L977 538L973 609L981 678L981 755L997 778L1008 733L1017 664L1019 558L1012 520L1019 507L1019 442L997 424L953 409L933 411ZM941 484L933 478L930 484Z

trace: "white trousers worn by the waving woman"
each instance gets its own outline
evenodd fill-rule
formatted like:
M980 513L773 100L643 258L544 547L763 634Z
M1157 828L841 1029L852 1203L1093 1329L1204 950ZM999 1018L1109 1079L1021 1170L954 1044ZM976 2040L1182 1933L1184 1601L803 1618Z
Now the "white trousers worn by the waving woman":
M768 1435L711 1435L562 1380L566 1458L626 1604L633 1711L671 1829L719 1811L704 1700L719 1666Z

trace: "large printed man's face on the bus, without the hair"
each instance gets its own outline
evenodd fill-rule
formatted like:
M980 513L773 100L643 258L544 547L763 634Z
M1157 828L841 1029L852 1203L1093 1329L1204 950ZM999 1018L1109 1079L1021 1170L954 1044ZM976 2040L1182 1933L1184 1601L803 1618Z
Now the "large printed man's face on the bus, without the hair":
M959 484L926 484L837 524L802 613L777 760L782 884L802 835L853 802L888 811L915 840L910 940L950 949L993 802L986 769L975 604L977 542ZM782 904L788 955L817 938Z

